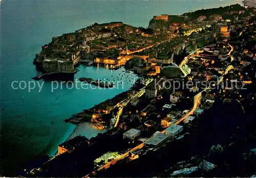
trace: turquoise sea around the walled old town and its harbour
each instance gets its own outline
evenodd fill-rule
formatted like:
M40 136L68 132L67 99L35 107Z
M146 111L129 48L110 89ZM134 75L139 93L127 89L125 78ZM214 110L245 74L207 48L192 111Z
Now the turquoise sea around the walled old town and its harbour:
M132 86L131 82L125 82L124 88L108 91L68 90L63 86L62 90L51 92L51 83L45 82L40 93L37 87L30 93L28 90L13 90L12 81L28 82L37 75L33 58L43 44L51 41L52 36L73 32L95 22L123 21L125 24L147 27L150 19L157 14L181 14L234 3L241 1L4 0L0 5L0 103L1 109L4 109L1 110L0 173L14 172L33 155L53 154L56 146L70 137L75 129L75 125L65 123L63 119ZM122 71L80 66L80 72L75 77L111 78ZM135 75L131 74L130 77ZM73 136L81 133L90 138L99 132L102 131L86 123L79 125Z

